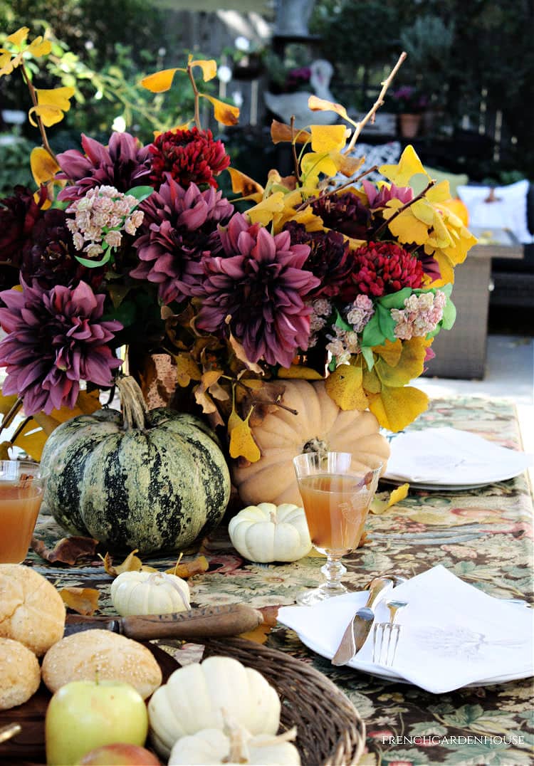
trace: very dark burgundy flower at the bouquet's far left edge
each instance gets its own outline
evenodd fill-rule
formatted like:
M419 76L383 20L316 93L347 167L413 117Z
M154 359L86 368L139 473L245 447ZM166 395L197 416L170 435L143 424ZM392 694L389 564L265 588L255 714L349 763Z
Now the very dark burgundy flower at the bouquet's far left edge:
M0 260L4 264L0 283L8 287L18 284L18 270L31 248L31 236L46 199L44 187L38 203L30 189L15 186L14 191L14 196L0 200Z

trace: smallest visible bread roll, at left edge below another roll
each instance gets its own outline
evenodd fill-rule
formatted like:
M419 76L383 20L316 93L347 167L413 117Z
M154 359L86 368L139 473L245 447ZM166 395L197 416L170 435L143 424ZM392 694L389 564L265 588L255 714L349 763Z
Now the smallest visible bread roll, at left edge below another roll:
M38 659L20 641L0 638L0 710L22 705L41 683Z

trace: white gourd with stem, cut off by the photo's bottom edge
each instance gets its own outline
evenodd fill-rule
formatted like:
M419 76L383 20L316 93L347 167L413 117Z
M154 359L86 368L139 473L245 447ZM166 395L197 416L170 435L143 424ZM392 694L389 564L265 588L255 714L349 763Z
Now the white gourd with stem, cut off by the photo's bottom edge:
M289 741L295 736L296 728L279 736L254 736L243 727L235 725L227 726L224 732L217 728L205 728L175 743L169 766L300 766L299 751Z

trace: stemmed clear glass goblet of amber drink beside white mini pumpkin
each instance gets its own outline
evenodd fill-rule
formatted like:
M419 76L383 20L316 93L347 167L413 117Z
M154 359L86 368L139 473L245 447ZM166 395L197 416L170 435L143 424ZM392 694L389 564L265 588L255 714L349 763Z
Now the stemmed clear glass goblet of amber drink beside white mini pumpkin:
M297 604L310 606L347 592L342 556L358 547L382 465L355 470L349 452L304 453L293 459L313 545L326 554L326 582L304 591Z

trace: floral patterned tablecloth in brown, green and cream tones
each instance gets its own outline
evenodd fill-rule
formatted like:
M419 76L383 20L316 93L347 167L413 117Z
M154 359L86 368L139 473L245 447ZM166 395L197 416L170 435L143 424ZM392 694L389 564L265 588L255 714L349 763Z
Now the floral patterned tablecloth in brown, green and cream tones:
M435 399L411 428L444 425L472 431L505 447L520 447L516 414L507 401ZM363 548L346 559L346 582L356 590L378 574L411 577L443 564L486 593L532 597L532 494L526 474L464 492L411 491L384 514L370 516L368 530ZM51 517L41 516L36 535L50 543L64 532ZM224 526L204 542L203 552L209 570L192 581L192 601L199 605L292 604L298 591L322 580L323 560L314 556L290 565L244 561L231 548ZM113 611L111 578L100 559L65 568L47 565L31 554L26 563L59 586L99 588L100 613ZM144 563L164 569L175 559ZM312 663L352 700L367 725L369 752L362 763L532 763L532 679L436 696L408 684L333 667L306 649L296 633L281 626L270 632L267 643Z

